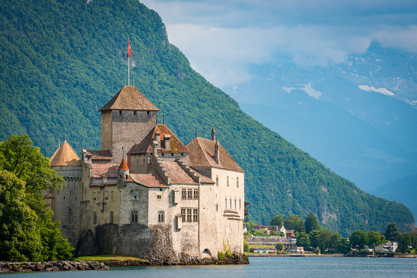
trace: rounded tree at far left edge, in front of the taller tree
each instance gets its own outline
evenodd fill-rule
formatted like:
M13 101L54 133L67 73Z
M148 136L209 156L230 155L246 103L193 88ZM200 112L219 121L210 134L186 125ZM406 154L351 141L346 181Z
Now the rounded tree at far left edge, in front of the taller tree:
M0 171L0 259L38 260L42 250L35 212L26 205L25 183L15 174Z

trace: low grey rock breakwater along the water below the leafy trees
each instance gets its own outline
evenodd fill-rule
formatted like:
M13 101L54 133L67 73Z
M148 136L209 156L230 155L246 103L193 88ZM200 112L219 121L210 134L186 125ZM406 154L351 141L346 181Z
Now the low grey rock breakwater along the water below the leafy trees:
M104 263L96 261L79 260L54 260L45 263L41 262L0 262L0 272L15 271L62 271L62 270L95 270L108 269Z

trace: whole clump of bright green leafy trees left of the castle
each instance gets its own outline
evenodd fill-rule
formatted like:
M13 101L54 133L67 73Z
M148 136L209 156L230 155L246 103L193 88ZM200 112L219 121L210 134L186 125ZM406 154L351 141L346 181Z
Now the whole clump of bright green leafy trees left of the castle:
M13 230L15 237L10 240L6 236L5 248L0 256L5 260L20 261L70 258L73 247L62 238L59 223L52 222L53 212L43 199L43 190L59 188L63 183L63 178L50 169L49 159L43 157L39 148L33 146L28 135L10 136L8 140L0 142L0 165L5 169L2 171L4 177L10 178L13 182L19 181L16 181L19 191L11 190L8 183L5 183L7 186L4 192L12 194L14 201L3 203L2 214L7 214L7 217L0 217L0 224L5 228L3 234L11 233ZM5 213L9 210L14 211L17 204L18 212L21 214ZM25 226L21 222L25 223ZM10 226L8 223L20 224ZM20 238L19 232L25 233L25 238ZM3 240L0 242L3 243ZM30 246L23 248L25 244Z

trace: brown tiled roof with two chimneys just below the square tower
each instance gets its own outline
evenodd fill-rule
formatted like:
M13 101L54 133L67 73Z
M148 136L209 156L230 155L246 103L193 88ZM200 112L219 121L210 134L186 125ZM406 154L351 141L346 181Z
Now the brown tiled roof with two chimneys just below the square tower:
M129 150L128 155L137 153L152 153L152 141L155 140L155 133L161 133L161 149L158 149L158 153L189 153L190 150L172 133L166 125L155 125L155 127L143 138L141 143L133 145ZM169 140L170 149L163 148L163 138L166 135L170 136Z

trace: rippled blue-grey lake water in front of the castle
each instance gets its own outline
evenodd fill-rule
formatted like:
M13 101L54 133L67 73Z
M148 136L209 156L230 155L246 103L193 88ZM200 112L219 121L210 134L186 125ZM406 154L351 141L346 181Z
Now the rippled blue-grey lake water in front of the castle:
M249 265L113 267L109 270L4 273L10 278L411 278L417 258L249 258Z

